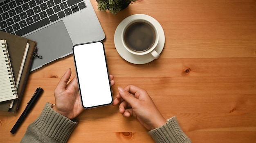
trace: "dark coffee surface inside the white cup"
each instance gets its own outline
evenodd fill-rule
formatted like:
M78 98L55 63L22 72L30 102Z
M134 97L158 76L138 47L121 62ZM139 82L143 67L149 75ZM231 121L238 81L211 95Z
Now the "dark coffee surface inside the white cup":
M155 43L155 31L145 22L135 22L126 29L124 41L131 50L143 52Z

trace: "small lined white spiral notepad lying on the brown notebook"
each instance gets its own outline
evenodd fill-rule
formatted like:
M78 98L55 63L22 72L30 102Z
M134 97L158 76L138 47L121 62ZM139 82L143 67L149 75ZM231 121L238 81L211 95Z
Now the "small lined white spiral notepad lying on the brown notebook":
M0 40L0 102L18 98L7 43Z

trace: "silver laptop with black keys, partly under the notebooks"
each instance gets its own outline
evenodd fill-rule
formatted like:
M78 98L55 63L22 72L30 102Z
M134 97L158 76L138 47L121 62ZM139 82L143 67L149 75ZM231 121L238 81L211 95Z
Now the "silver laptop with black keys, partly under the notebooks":
M0 0L0 30L37 42L31 71L105 38L90 0Z

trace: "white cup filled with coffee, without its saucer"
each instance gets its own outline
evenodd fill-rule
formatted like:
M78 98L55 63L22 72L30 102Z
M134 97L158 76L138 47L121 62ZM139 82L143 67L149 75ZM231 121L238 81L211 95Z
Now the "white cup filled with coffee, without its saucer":
M124 26L121 39L126 50L132 54L151 54L155 59L159 54L155 51L159 41L157 28L149 21L133 19Z

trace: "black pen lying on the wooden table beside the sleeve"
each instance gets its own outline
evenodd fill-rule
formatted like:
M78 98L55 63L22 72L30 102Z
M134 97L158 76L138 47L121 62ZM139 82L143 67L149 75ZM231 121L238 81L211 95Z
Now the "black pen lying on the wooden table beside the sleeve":
M36 92L34 93L34 95L32 96L31 100L27 103L27 106L25 108L25 110L23 111L23 113L20 115L20 118L18 119L18 121L16 122L16 124L13 126L13 128L11 129L11 133L14 134L16 132L16 130L20 127L20 125L22 124L22 121L25 119L25 117L27 116L27 114L31 111L31 109L34 107L34 104L36 103L36 101L38 100L38 98L40 97L40 95L43 93L43 89L41 87L38 87L36 89Z

